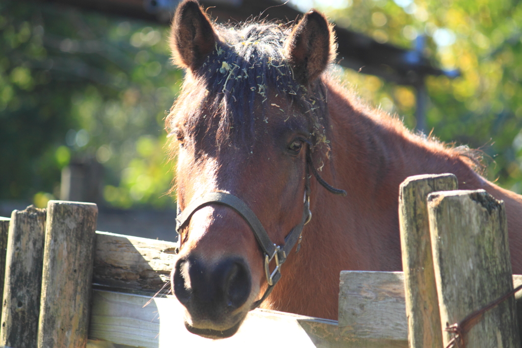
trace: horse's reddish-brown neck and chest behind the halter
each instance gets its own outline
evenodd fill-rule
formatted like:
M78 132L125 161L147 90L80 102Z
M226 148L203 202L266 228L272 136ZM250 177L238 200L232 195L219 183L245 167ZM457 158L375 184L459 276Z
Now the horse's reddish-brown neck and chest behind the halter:
M307 299L335 297L341 270L402 268L398 196L406 177L454 173L460 188L477 188L484 180L457 151L412 135L397 119L365 109L334 83L327 82L327 90L331 153L319 174L348 195L334 196L312 179L312 221L270 301L274 309L336 318L335 301L311 306Z

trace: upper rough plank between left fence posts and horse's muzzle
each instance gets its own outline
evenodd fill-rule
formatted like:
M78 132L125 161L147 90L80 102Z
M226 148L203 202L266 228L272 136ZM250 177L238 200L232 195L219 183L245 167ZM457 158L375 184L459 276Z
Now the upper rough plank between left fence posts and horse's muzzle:
M175 247L172 242L97 232L93 282L156 293L169 282Z

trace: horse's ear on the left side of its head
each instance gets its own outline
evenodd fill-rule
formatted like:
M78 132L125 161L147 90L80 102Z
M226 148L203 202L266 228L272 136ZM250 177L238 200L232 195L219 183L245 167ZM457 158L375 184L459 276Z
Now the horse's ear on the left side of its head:
M176 9L170 32L174 63L198 69L215 47L217 35L195 0L185 0Z

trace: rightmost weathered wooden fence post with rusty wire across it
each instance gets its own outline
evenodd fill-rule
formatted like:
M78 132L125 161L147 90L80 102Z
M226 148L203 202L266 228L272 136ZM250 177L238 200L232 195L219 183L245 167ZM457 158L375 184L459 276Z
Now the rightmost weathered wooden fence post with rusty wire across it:
M504 202L484 190L428 196L435 279L443 328L513 290ZM515 297L485 312L466 347L520 347ZM443 332L447 345L453 335Z

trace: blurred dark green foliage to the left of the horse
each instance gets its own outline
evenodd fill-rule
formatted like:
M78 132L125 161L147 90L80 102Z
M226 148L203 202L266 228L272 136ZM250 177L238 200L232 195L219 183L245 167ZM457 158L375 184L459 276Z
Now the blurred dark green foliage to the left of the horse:
M105 166L117 207L172 205L165 110L182 72L167 29L57 5L0 3L0 199L59 197L71 159Z

